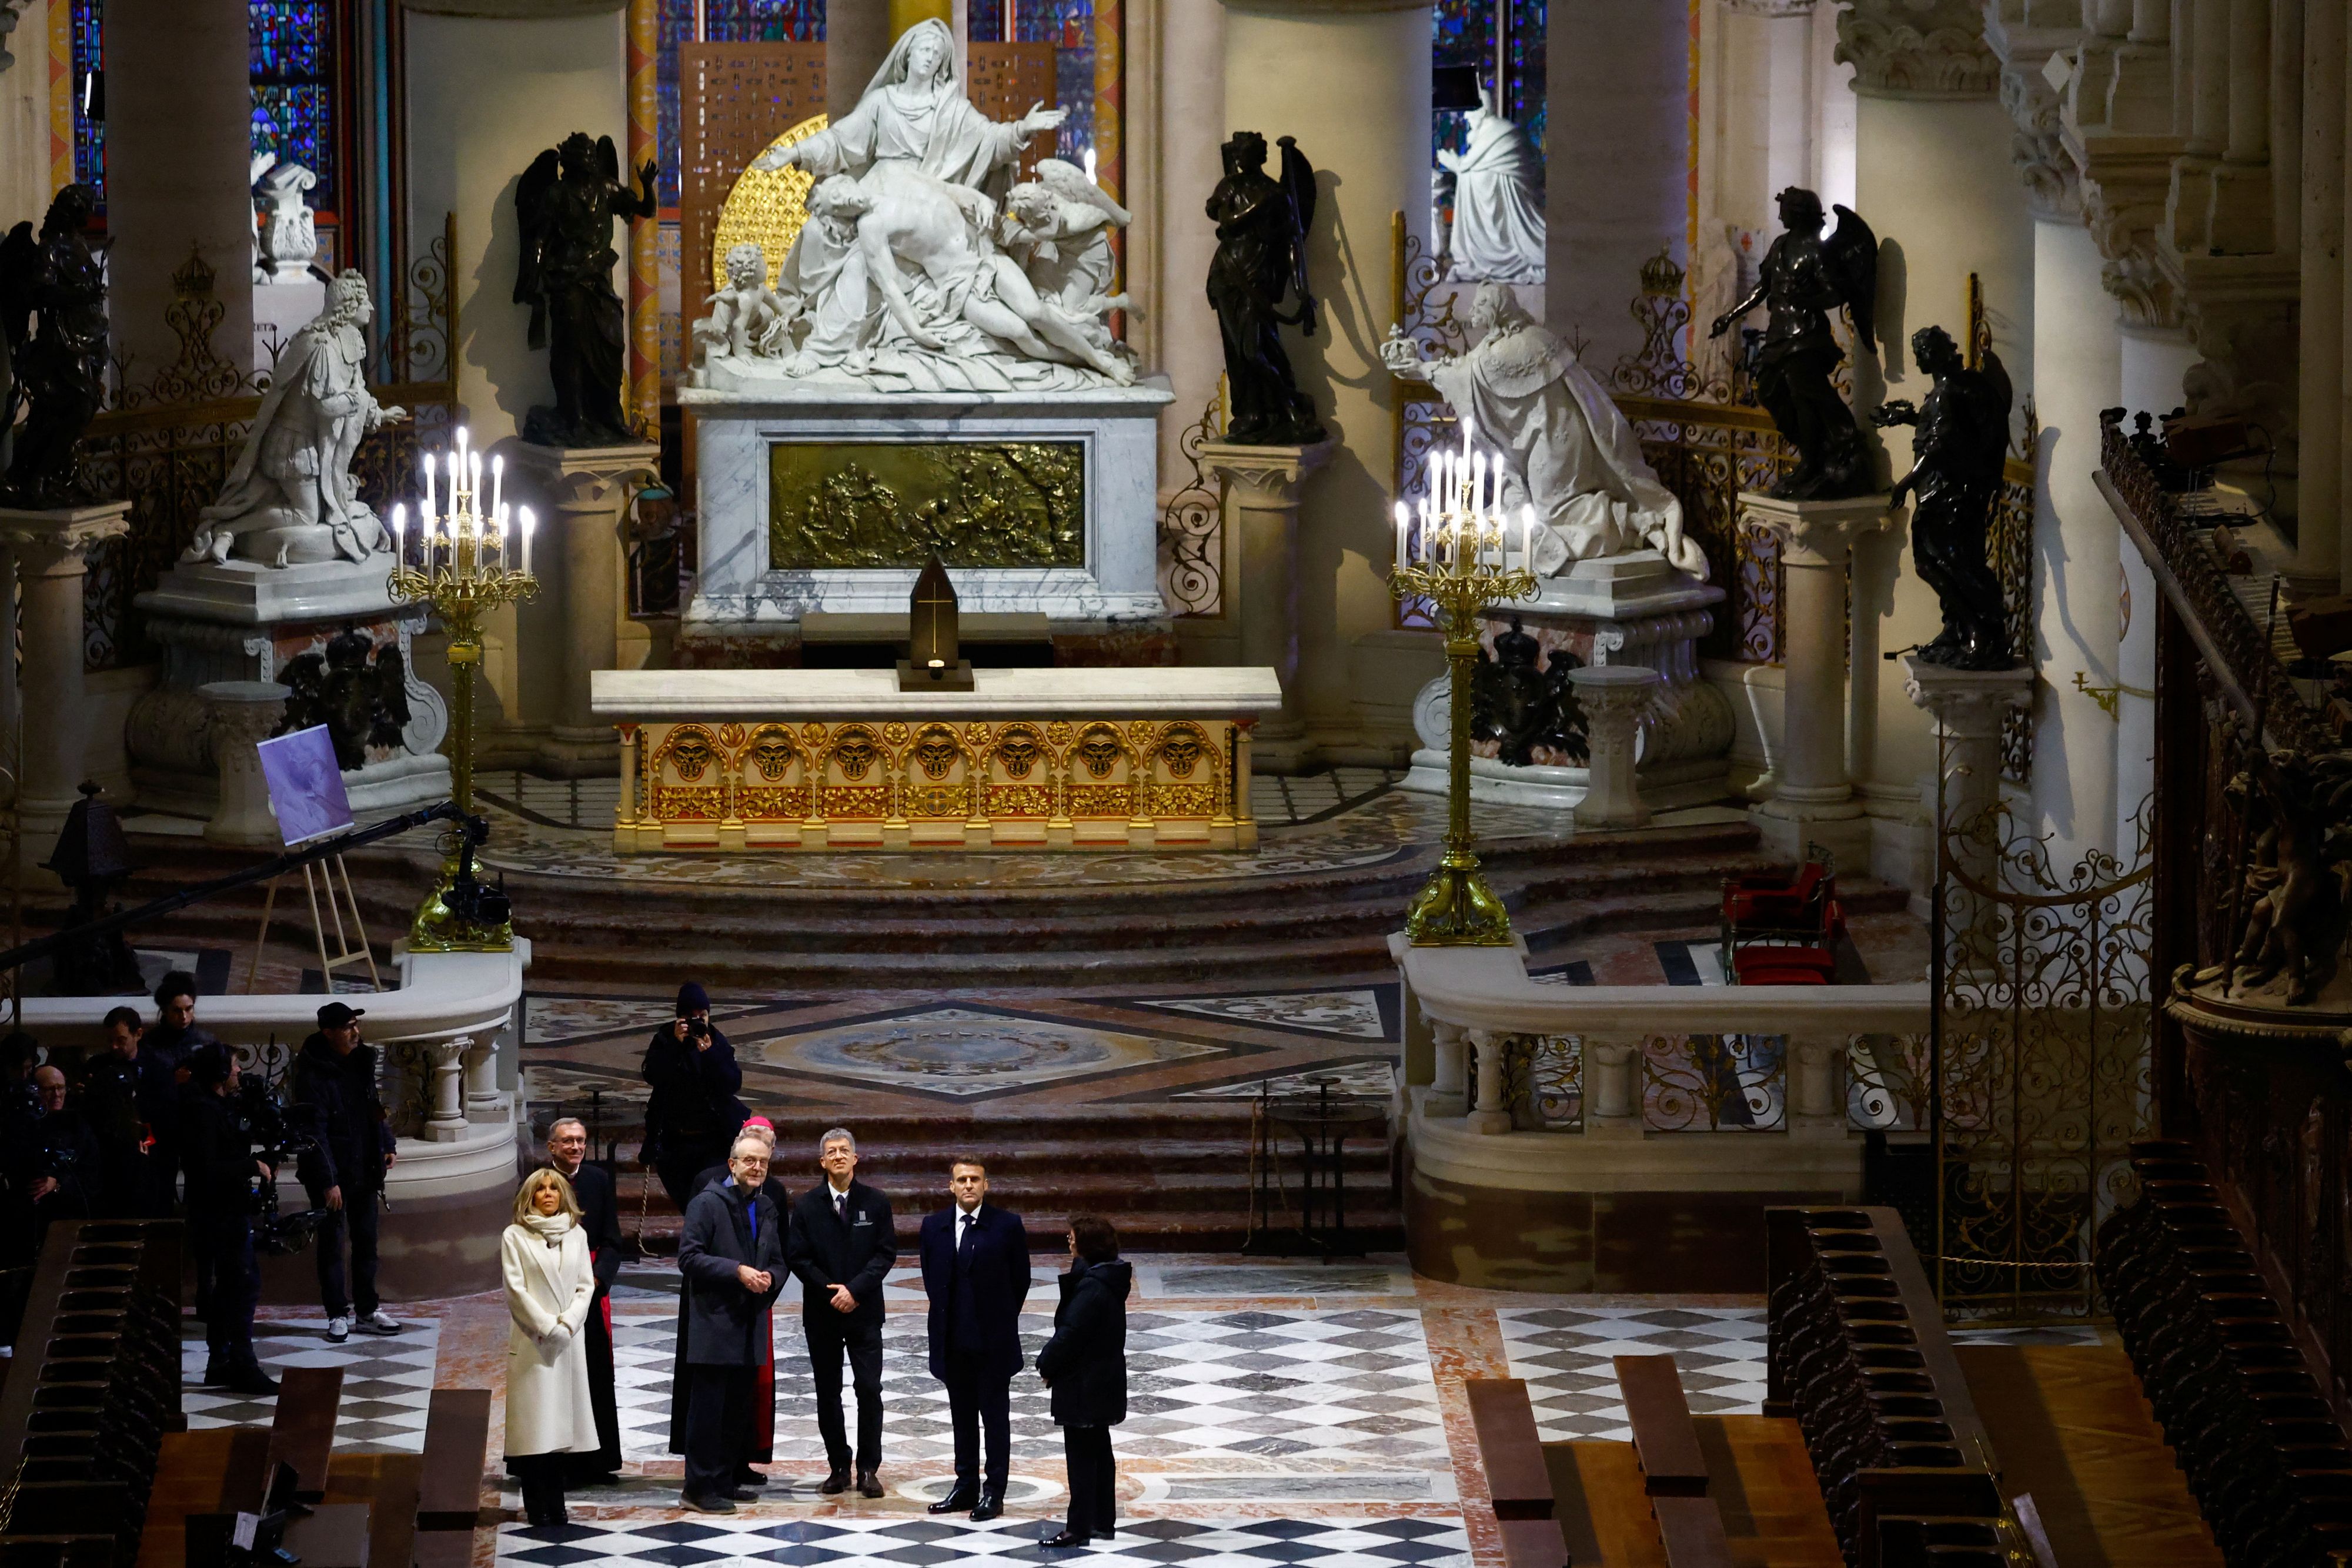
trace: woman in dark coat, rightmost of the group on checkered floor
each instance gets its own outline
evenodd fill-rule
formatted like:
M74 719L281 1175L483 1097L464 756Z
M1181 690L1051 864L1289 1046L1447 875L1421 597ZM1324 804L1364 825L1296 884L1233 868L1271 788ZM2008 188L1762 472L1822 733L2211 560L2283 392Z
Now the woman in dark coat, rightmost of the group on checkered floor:
M1037 1375L1054 1394L1061 1453L1070 1467L1070 1519L1047 1547L1110 1540L1117 1521L1117 1469L1110 1429L1127 1420L1127 1291L1136 1272L1120 1262L1110 1220L1070 1220L1070 1272L1061 1276L1054 1338L1037 1352Z

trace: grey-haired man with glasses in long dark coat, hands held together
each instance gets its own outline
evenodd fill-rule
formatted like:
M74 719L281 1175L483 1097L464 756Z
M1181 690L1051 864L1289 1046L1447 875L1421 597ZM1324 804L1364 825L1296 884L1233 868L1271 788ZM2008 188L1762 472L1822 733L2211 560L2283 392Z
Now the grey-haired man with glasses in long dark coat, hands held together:
M687 1387L670 1399L687 1401L687 1486L680 1502L696 1514L734 1514L750 1493L736 1472L750 1439L748 1368L767 1359L757 1338L769 1307L783 1291L783 1215L760 1192L767 1180L767 1147L739 1138L729 1152L731 1175L687 1204L677 1237L677 1349Z

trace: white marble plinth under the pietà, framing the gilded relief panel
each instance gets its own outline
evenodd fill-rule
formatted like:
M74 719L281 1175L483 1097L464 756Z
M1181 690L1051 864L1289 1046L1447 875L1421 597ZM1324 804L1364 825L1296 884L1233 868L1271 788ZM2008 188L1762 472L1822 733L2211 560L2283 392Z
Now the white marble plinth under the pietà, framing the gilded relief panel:
M783 442L1077 442L1084 447L1084 562L950 567L967 614L1042 614L1058 635L1167 632L1160 599L1160 409L1164 376L1084 393L863 393L807 386L757 393L689 388L701 508L701 571L680 637L795 639L809 611L906 611L910 567L769 564L769 449Z

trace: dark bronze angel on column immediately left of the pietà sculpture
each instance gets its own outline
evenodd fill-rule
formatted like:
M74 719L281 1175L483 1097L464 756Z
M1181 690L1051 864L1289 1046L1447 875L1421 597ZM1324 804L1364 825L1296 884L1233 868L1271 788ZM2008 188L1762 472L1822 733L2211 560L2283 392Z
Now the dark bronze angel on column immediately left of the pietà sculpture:
M612 287L621 254L614 219L652 219L656 169L621 183L612 136L572 132L560 148L532 160L515 186L522 261L515 303L532 308L532 348L548 350L555 407L532 409L522 440L541 447L621 447L637 440L621 414L628 369L628 313Z

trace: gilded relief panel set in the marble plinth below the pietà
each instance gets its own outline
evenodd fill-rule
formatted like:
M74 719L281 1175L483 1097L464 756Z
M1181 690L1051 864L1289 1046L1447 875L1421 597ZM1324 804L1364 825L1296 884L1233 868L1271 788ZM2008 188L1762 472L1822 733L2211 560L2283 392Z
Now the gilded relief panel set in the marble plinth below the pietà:
M1080 442L776 442L767 564L1084 567Z

